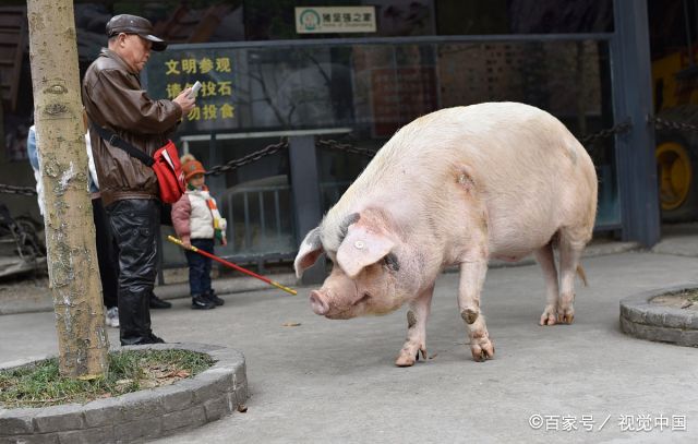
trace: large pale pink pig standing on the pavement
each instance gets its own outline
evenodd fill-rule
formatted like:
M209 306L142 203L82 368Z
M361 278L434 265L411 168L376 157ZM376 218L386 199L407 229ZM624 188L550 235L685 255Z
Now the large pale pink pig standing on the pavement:
M385 314L408 302L395 363L409 367L426 357L434 283L457 265L470 351L484 361L494 357L480 309L489 260L532 253L545 280L540 325L570 324L595 212L593 163L556 118L517 103L446 108L401 128L377 152L305 236L293 266L301 277L321 254L332 261L322 288L310 292L313 312L327 319Z

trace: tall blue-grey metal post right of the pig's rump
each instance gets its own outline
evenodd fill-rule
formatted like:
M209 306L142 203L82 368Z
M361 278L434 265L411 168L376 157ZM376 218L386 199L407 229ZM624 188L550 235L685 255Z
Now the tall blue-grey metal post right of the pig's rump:
M614 0L611 39L613 108L616 122L629 120L629 133L616 136L623 240L651 247L660 238L654 158L652 77L646 0Z

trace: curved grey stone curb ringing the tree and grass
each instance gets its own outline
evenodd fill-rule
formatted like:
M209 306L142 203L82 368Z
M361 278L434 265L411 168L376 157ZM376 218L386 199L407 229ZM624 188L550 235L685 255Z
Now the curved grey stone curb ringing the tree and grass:
M237 350L204 344L121 348L144 349L197 351L216 362L192 379L115 398L84 405L0 409L0 444L143 442L220 419L248 399L245 361Z

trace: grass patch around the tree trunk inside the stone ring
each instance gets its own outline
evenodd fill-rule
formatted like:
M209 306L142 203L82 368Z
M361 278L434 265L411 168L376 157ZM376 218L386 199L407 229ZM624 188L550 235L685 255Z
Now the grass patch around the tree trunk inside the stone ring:
M190 350L124 350L109 353L106 377L79 381L59 374L58 359L0 372L0 407L46 407L88 403L125 393L169 385L213 365Z

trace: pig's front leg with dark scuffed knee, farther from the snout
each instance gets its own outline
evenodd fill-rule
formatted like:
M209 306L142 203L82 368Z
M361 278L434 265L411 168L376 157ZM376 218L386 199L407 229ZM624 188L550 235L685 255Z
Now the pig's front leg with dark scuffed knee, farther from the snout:
M460 264L458 307L470 337L470 352L476 361L494 358L494 346L490 340L484 316L480 312L480 292L488 274L488 261L474 260Z

